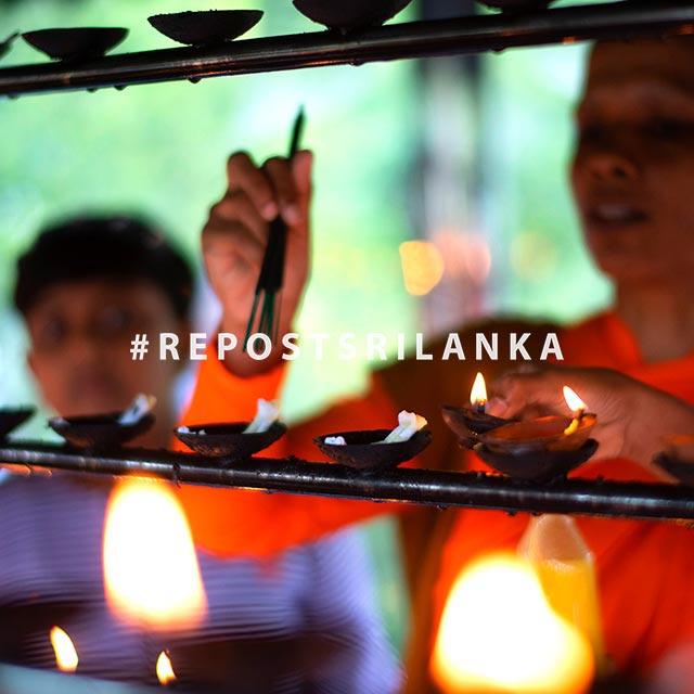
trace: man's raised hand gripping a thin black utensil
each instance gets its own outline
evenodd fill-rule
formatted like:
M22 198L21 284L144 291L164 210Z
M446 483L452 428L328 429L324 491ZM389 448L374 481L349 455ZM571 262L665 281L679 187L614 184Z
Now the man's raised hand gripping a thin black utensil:
M213 290L222 306L220 330L233 333L239 347L224 358L239 376L268 371L281 346L261 361L242 352L256 283L268 243L269 222L281 215L287 224L284 285L280 293L280 330L290 332L309 275L309 207L312 154L298 152L290 162L273 157L257 167L239 152L227 164L229 188L210 209L203 229L203 257Z

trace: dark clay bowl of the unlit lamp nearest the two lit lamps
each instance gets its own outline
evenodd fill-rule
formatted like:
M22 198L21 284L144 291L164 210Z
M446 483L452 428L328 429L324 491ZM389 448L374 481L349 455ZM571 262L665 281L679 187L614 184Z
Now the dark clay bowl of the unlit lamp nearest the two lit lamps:
M339 432L325 434L313 442L331 460L349 467L378 470L397 467L421 453L432 441L432 433L420 430L408 441L377 444L390 434L390 429L371 429L367 432ZM345 445L325 444L329 436L342 436Z

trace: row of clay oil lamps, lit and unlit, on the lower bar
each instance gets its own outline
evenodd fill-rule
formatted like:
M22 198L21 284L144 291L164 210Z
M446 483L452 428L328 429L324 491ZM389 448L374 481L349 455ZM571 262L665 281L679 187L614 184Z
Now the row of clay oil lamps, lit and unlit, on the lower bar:
M590 438L596 415L586 412L586 404L568 386L564 386L564 397L570 416L551 415L524 421L500 419L485 412L487 391L484 377L478 373L470 406L444 406L441 410L460 445L473 449L494 471L515 479L547 483L564 477L588 461L599 446ZM124 412L53 417L49 425L73 447L107 451L146 432L154 423L153 406L152 398L141 395ZM31 408L0 410L0 441L33 413ZM423 428L427 423L424 417L403 411L398 420L394 430L338 432L319 436L314 444L327 458L350 467L370 471L395 467L421 453L432 440L432 433ZM219 466L224 466L231 460L245 460L268 448L284 435L286 428L279 421L277 404L259 400L258 414L250 423L179 426L174 433L185 446L205 457L203 460L191 455L190 464L200 461L200 464L209 465L213 458ZM666 451L654 462L680 481L693 485L691 448Z

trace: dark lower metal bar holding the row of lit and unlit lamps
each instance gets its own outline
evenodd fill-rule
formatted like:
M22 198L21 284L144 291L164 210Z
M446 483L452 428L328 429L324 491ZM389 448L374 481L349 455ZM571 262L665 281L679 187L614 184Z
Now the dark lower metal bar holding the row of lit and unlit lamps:
M694 518L694 491L680 485L563 479L537 485L484 473L396 468L363 472L298 459L237 462L163 450L104 455L62 446L4 444L0 461L27 467L436 506L575 513L630 518ZM220 464L224 467L220 467Z

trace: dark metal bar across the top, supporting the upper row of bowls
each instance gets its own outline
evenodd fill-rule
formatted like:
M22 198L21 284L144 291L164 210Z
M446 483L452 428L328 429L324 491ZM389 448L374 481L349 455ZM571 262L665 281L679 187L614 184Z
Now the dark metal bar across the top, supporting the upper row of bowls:
M0 94L123 88L221 75L360 65L374 61L499 51L601 38L694 30L694 3L651 5L608 2L542 10L390 24L342 36L337 31L233 41L219 48L175 48L124 53L83 63L48 63L0 69Z

